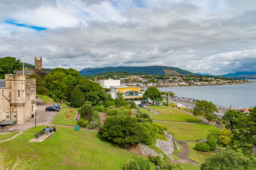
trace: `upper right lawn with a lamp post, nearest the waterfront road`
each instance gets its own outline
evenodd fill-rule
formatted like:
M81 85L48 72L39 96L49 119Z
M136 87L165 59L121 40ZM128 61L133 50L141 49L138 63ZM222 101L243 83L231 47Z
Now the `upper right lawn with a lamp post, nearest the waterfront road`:
M185 111L177 110L174 108L167 108L164 106L150 106L150 108L159 111L159 115L150 115L154 120L167 120L173 122L202 122L200 118L189 115ZM171 113L172 111L172 118Z

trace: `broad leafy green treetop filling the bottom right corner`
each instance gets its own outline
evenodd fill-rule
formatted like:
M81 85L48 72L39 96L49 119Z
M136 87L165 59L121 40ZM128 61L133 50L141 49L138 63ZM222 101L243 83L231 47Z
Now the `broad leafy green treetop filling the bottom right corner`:
M230 148L221 150L216 155L212 155L201 164L201 170L212 169L254 169L255 157L246 157L241 152L236 152Z

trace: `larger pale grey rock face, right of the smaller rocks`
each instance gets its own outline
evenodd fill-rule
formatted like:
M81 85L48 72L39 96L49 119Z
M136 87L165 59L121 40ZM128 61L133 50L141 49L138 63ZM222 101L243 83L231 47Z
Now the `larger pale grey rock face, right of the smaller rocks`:
M173 159L173 151L180 150L180 147L172 134L168 134L166 131L164 131L164 134L168 141L157 139L156 146L161 149L161 151L165 153L170 159Z

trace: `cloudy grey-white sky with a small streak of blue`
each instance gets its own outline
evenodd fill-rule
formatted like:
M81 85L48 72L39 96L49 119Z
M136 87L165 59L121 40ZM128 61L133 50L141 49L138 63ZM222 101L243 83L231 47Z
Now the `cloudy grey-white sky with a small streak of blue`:
M43 66L256 71L255 0L0 0L0 57Z

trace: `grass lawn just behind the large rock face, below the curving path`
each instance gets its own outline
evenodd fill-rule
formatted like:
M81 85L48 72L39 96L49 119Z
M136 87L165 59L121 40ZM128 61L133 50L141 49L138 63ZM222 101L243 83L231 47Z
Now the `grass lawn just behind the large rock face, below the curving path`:
M211 132L220 132L218 127L207 124L182 124L171 122L157 122L168 128L167 132L172 133L179 141L196 141L196 139L205 139Z

